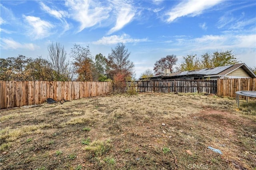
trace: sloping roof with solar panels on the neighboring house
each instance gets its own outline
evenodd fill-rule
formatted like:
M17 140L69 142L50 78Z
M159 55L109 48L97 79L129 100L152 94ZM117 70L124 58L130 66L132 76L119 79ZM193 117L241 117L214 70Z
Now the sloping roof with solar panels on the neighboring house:
M192 71L182 71L182 72L176 72L176 73L170 73L170 74L162 74L157 75L154 77L150 77L151 79L170 79L170 78L179 78L179 77L218 77L218 76L225 76L232 71L242 67L248 75L251 77L256 77L256 75L247 67L245 63L239 63L234 65L226 65L226 66L220 66L220 67L214 67L214 68L205 68L205 69L198 69L198 70L192 70Z

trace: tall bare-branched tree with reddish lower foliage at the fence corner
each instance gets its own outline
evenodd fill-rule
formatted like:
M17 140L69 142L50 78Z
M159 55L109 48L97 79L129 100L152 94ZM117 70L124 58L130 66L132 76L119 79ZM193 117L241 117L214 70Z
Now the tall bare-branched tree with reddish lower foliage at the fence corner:
M132 77L134 63L129 60L130 52L125 49L123 43L118 43L108 55L108 76L113 79L114 75L122 74L124 77Z

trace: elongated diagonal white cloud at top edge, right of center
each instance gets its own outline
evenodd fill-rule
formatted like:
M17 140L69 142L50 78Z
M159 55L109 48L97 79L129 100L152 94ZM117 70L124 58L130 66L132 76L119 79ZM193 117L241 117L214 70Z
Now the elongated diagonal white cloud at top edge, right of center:
M180 18L182 16L198 16L216 4L220 3L220 0L190 0L190 1L182 1L177 6L172 8L170 12L167 12L166 15L168 18L166 22L173 22L176 18Z

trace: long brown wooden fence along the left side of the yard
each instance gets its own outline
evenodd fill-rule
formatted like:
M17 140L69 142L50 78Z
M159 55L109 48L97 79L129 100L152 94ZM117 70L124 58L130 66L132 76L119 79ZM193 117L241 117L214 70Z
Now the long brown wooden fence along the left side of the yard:
M60 101L104 95L111 90L111 82L0 81L0 109L38 105L47 98Z

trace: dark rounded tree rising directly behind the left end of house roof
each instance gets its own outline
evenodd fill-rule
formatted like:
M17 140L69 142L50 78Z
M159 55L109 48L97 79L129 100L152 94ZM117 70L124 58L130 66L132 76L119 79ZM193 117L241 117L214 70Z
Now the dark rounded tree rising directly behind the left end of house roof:
M174 65L178 61L176 55L167 55L166 57L161 58L156 61L154 66L154 71L156 75L160 75L164 73L165 69L170 69L170 72L173 73Z

